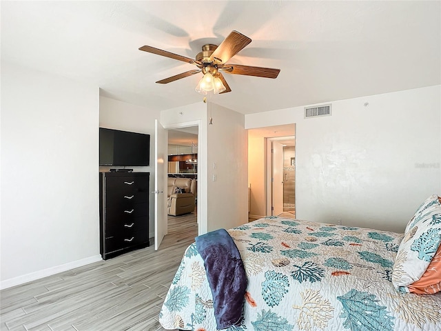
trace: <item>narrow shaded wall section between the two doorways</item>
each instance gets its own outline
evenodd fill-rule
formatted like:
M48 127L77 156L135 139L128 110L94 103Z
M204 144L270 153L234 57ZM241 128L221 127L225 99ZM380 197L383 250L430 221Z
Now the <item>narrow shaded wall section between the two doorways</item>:
M245 116L210 106L213 123L207 128L208 231L234 228L248 221Z

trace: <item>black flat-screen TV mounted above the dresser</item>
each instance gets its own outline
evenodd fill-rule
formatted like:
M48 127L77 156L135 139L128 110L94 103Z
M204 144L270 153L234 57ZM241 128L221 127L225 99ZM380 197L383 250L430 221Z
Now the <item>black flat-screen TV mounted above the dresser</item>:
M99 128L99 165L150 165L150 134Z

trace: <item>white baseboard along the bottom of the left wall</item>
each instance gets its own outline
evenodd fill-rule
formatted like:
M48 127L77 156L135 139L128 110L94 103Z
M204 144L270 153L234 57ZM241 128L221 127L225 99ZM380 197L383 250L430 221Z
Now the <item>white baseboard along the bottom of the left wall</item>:
M31 272L30 274L23 274L22 276L19 277L14 277L11 279L0 281L0 290L3 290L5 288L12 288L12 286L28 283L29 281L35 281L43 277L52 276L53 274L58 274L59 272L82 267L83 265L87 265L102 260L103 258L101 257L100 254L98 254L98 255L94 255L93 257L86 257L85 259L64 263L61 265L57 265L55 267L39 270L36 272Z

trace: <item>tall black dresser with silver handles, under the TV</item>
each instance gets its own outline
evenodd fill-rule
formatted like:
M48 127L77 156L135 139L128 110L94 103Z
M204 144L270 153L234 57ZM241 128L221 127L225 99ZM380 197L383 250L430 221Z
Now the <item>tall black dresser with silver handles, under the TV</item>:
M100 172L100 253L107 260L149 243L150 172Z

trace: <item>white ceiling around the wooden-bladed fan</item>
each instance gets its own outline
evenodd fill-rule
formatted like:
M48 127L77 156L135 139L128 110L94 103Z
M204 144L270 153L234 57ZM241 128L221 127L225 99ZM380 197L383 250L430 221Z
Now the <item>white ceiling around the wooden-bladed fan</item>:
M441 83L441 1L1 1L1 59L99 86L149 109L195 103L194 58L232 30L252 43L229 63L277 79L225 74L213 102L243 114Z

